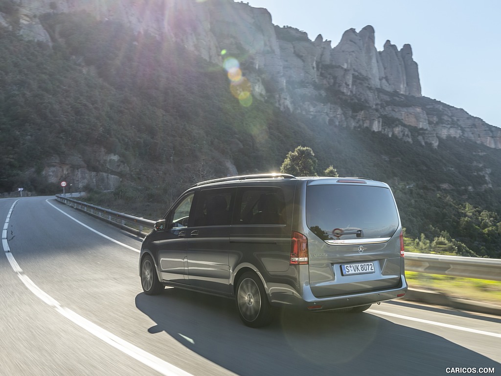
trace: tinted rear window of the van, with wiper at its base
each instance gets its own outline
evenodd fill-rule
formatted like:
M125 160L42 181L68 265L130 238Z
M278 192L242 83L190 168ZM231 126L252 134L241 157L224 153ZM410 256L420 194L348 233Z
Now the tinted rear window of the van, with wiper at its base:
M388 238L398 228L388 188L370 185L310 185L306 223L322 240Z

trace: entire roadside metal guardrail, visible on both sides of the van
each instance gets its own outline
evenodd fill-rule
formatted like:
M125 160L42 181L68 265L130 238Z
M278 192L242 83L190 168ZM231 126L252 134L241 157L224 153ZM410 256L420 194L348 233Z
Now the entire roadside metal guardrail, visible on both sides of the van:
M57 195L58 201L72 208L86 212L96 218L118 226L138 236L145 236L145 229L153 229L155 221L129 216L109 209L83 203L67 195ZM476 257L405 253L405 270L453 277L478 278L501 281L501 260Z

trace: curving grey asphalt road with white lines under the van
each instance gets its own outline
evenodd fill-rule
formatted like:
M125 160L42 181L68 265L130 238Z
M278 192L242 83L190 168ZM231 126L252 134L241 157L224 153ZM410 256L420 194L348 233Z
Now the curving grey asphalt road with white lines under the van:
M228 299L145 295L140 239L53 197L0 199L0 226L2 376L501 373L501 317L398 301L252 329Z

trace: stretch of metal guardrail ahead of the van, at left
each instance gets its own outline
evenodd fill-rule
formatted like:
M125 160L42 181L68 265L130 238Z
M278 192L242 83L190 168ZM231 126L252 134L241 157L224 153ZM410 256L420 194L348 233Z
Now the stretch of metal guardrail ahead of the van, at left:
M155 225L155 221L129 216L128 214L118 213L109 209L83 203L68 198L67 195L56 195L56 200L138 236L144 237L147 234L145 230L151 230Z

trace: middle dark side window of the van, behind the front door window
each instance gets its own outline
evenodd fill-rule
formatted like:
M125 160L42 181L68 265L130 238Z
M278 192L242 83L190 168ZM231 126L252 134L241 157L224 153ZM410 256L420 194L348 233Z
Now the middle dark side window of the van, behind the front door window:
M230 205L235 192L234 188L200 191L197 194L193 226L230 225Z

